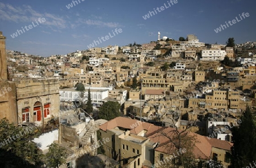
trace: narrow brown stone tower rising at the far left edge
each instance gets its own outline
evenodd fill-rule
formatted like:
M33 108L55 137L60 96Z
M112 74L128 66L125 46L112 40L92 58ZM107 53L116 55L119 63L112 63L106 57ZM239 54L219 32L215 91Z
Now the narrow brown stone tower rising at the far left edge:
M0 32L0 80L7 80L7 65L6 65L6 53L5 53L5 39L3 33Z

